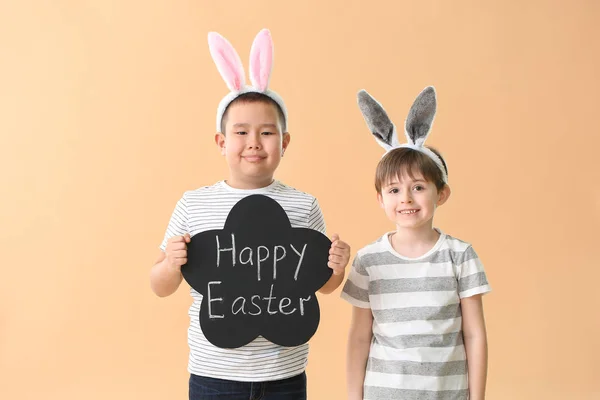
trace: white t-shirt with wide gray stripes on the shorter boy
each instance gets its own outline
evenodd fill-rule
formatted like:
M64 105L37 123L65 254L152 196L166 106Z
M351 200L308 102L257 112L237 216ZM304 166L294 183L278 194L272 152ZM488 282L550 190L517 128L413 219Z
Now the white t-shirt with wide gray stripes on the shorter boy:
M390 233L358 251L341 294L373 313L364 399L466 400L460 299L491 290L483 265L442 232L423 256L403 257Z

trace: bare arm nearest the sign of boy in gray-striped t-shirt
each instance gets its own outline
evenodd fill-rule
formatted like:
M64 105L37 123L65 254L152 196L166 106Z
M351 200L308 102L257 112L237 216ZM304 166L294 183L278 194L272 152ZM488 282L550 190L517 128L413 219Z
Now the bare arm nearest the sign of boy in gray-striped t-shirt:
M373 314L371 309L352 307L346 359L348 400L362 400L363 398L363 385L372 336Z

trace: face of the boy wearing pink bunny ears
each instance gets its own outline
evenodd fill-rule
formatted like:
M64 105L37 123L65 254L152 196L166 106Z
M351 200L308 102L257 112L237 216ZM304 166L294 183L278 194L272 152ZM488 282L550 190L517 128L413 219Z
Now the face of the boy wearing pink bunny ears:
M252 189L271 183L290 135L281 132L274 105L235 103L227 111L225 135L218 133L215 141L229 166L228 183Z

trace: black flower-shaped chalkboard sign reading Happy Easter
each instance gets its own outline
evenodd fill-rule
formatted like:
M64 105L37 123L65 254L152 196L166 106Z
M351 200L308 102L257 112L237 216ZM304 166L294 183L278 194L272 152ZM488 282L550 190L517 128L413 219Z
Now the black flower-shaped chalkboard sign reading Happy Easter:
M223 229L194 235L181 272L202 294L200 326L215 346L236 348L257 336L281 346L306 343L319 325L315 292L331 277L331 241L292 228L284 209L250 195Z

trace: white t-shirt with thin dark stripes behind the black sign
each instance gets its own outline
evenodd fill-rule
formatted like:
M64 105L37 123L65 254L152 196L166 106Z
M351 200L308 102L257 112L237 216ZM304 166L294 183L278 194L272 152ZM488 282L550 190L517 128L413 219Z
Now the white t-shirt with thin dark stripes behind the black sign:
M186 232L223 229L233 206L246 196L263 194L277 201L287 213L294 228L310 228L325 233L325 222L317 200L306 193L274 181L260 189L235 189L224 181L212 186L187 191L177 202L164 240ZM193 303L189 309L190 347L188 371L194 375L235 381L260 382L289 378L301 374L307 364L308 343L282 347L262 336L236 349L222 349L206 340L200 330L199 312L202 295L190 290Z

